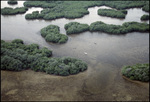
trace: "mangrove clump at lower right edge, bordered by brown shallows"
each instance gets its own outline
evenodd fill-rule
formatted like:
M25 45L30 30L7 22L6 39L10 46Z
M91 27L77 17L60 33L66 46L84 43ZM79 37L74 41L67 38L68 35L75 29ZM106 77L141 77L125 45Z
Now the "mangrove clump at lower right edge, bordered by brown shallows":
M131 80L149 81L149 64L136 64L133 66L124 66L122 74Z

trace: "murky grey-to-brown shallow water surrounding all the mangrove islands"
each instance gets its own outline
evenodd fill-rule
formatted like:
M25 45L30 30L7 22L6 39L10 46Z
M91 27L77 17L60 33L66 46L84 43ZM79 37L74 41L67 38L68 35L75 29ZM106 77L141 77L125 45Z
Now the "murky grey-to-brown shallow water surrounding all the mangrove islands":
M20 1L19 6L22 6L22 3ZM1 8L5 6L9 6L7 2L1 2ZM141 22L140 17L148 14L140 8L133 8L128 9L125 19L115 19L97 15L99 8L109 7L89 8L89 15L71 20L26 20L25 14L1 15L1 39L23 39L27 44L37 43L41 47L52 49L54 57L71 56L88 63L87 71L68 77L31 70L1 71L2 100L148 101L149 83L132 83L123 79L120 74L123 65L149 63L148 33L109 35L101 32L84 32L70 35L68 42L61 45L47 43L40 35L40 29L50 24L58 25L60 32L65 34L64 25L72 21L87 24L103 21L107 24L121 25L128 21ZM30 8L27 13L36 10L42 9ZM84 52L87 52L87 55Z

